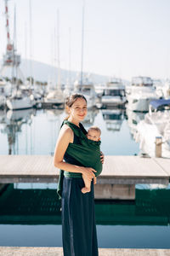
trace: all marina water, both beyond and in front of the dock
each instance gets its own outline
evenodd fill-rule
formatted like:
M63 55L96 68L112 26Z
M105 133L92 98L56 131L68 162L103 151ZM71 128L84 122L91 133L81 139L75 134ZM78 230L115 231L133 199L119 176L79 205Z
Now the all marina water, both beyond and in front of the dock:
M0 154L54 154L63 110L0 114ZM100 127L104 154L139 154L126 110L89 110L84 125ZM56 183L8 184L0 195L0 246L62 246L56 188ZM138 184L135 201L95 201L99 247L169 248L169 193L168 187Z

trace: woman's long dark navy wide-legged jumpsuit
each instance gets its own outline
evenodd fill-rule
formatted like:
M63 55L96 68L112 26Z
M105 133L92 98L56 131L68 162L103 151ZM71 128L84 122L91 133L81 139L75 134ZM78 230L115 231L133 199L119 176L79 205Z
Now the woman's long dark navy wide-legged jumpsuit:
M75 134L73 143L80 144L79 137ZM81 166L66 152L64 159L65 162ZM91 191L89 193L82 194L81 189L83 187L82 177L64 177L62 190L64 256L99 255L94 218L94 182L91 183Z

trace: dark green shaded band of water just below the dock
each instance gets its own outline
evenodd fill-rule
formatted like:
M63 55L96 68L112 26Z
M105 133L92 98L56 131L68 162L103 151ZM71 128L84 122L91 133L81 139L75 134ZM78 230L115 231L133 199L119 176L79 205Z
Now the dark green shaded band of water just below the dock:
M95 201L97 224L169 225L170 189L136 189L135 201ZM56 189L14 189L0 196L0 224L61 224Z

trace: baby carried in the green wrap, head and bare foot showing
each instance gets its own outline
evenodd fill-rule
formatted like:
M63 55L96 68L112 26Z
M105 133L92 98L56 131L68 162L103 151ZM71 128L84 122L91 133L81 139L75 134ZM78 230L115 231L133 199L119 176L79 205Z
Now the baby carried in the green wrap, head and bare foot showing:
M92 140L94 142L99 142L100 141L100 135L101 135L101 131L100 131L99 127L91 126L88 129L87 137L88 137L89 140ZM82 178L83 178L85 187L82 188L81 191L82 191L83 194L85 194L87 192L90 192L91 181L89 181L88 178L85 177L83 174L82 174ZM96 183L96 177L94 177L94 184L95 183Z

